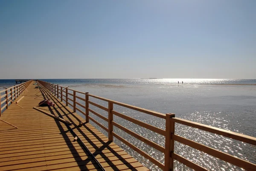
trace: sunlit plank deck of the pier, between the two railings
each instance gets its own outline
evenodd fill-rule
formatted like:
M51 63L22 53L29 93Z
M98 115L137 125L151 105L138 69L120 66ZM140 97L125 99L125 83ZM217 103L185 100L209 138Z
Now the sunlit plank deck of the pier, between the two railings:
M98 159L106 171L132 170L148 171L140 162L85 122L58 99L52 100L55 107L38 107L55 116L62 116L73 123L72 131L64 123L41 113L32 107L51 94L46 90L35 89L34 81L18 99L25 96L20 107L12 104L2 114L1 119L18 129L0 122L0 170L1 171L80 171L100 170L99 165L90 157L80 141L73 142L74 133ZM44 94L43 94L44 93ZM16 100L16 101L17 101Z

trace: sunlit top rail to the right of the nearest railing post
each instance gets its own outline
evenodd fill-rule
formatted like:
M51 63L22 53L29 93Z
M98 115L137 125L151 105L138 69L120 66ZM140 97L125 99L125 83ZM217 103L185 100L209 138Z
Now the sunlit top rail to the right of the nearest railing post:
M252 145L256 145L256 137L252 137L252 136L247 136L247 135L243 135L241 133L235 133L229 130L224 130L221 128L215 128L209 125L204 125L204 124L200 124L200 123L196 123L196 122L192 122L192 121L188 121L185 119L180 119L180 118L173 118L174 122L183 124L183 125L187 125L193 128L198 128L201 130L205 130L211 133L216 133L218 135L222 135L222 136L226 136L228 138L232 138L232 139L236 139L242 142L246 142Z

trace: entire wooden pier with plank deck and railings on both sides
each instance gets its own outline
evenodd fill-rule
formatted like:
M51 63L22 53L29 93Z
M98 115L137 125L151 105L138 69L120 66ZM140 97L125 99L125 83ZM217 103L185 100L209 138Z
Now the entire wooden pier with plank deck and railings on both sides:
M255 171L256 165L251 162L176 135L175 123L226 136L251 145L256 145L255 137L179 119L172 113L157 113L44 81L37 81L37 83L37 85L34 85L35 81L27 81L0 91L0 96L2 98L2 100L0 99L0 106L2 104L0 109L0 116L2 116L0 119L5 121L0 121L1 171L148 170L148 168L145 168L140 162L113 143L113 137L116 137L128 147L137 151L145 157L145 159L148 159L164 171L172 171L174 169L174 160L177 160L194 170L207 171L203 166L197 165L189 159L176 154L174 148L175 141L199 151L203 151L204 153L210 154L213 157L217 157L240 168L244 168L247 171ZM51 97L51 101L56 104L55 107L38 107L40 111L33 109L33 107L36 107L41 100L49 99ZM21 98L23 99L20 100ZM84 104L76 101L77 99L84 101ZM97 104L91 99L105 101L108 103L108 107ZM11 104L12 101L19 101L18 104L23 108ZM68 105L70 105L72 109L68 107ZM108 118L92 110L90 107L91 105L107 111ZM113 105L126 107L165 119L166 129L163 130L129 116L125 116L116 111L114 108L115 106ZM81 107L83 110L81 110ZM4 113L3 110L5 110ZM79 116L76 113L76 110L84 114L85 119ZM72 125L61 122L44 113L52 114L55 118L58 117L62 120L64 119L65 121L72 123ZM91 115L96 115L103 119L104 122L108 123L108 127L97 122ZM150 139L146 139L122 125L119 125L113 120L113 115L119 116L134 124L165 136L165 146L158 145ZM11 125L8 125L6 122ZM108 137L90 125L90 122L95 122L99 127L106 130L108 132ZM79 125L79 123L82 124ZM151 148L163 152L165 162L159 162L136 145L131 144L126 139L119 136L113 131L113 127L117 127L129 133L131 136L134 136L148 146L151 146ZM74 138L76 137L78 137L78 139L74 141Z

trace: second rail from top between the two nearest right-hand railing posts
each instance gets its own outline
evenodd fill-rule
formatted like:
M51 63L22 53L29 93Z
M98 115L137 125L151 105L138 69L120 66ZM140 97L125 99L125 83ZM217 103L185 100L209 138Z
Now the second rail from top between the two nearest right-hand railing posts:
M152 126L152 125L149 125L149 124L147 124L147 123L141 122L141 121L139 121L139 120L137 120L137 119L134 119L134 118L131 118L131 117L129 117L129 116L126 116L126 115L124 115L124 114L122 114L122 113L116 112L115 110L113 110L112 113L113 113L114 115L116 115L116 116L119 116L119 117L122 118L122 119L128 120L128 121L130 121L130 122L132 122L132 123L134 123L134 124L140 125L140 126L142 126L143 128L147 128L147 129L152 130L152 131L154 131L154 132L156 132L156 133L159 133L159 134L161 134L161 135L163 135L163 136L165 136L165 134L166 134L166 133L165 133L165 130L163 130L163 129L160 129L160 128L154 127L154 126Z

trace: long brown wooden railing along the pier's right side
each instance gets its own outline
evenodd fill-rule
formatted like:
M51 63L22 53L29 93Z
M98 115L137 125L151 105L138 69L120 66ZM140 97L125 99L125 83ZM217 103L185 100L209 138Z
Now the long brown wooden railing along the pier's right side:
M196 171L207 171L206 168L203 168L200 165L195 164L194 162L178 155L175 153L175 149L174 149L174 143L175 141L180 142L184 145L188 145L192 148L195 148L199 151L203 151L204 153L207 153L213 157L217 157L221 160L224 160L226 162L229 162L233 165L236 165L240 168L244 168L247 171L255 171L256 165L248 162L246 160L243 159L239 159L237 157L234 157L232 155L226 154L224 152L215 150L214 148L210 148L206 145L202 145L198 142L194 142L190 139L186 139L182 136L178 136L175 134L175 123L179 123L179 124L183 124L183 125L187 125L189 127L193 127L193 128L198 128L200 130L205 130L208 131L210 133L215 133L221 136L226 136L228 138L232 138L232 139L236 139L242 142L246 142L249 143L251 145L256 145L256 138L252 137L252 136L246 136L240 133L234 133L231 131L227 131L224 129L220 129L220 128L215 128L212 126L208 126L208 125L204 125L204 124L200 124L200 123L196 123L196 122L191 122L185 119L180 119L180 118L175 118L175 114L172 113L167 113L167 114L163 114L163 113L158 113L158 112L154 112L151 110L146 110L140 107L136 107L136 106L132 106L129 104L125 104L125 103L121 103L118 101L113 101L110 99L105 99L99 96L95 96L89 93L84 93L84 92L80 92L77 90L72 90L70 88L65 88L59 85L55 85L55 84L51 84L49 82L45 82L45 81L38 81L42 86L44 86L45 88L47 88L51 93L55 94L57 96L57 98L60 98L61 101L64 101L66 105L70 105L71 107L73 107L74 112L76 112L76 110L78 110L79 112L81 112L82 114L85 115L86 118L86 122L89 122L89 120L93 121L94 123L96 123L97 125L99 125L99 127L101 127L102 129L106 130L108 132L108 140L109 141L113 141L113 136L116 137L117 139L119 139L121 142L123 142L125 145L127 145L128 147L132 148L134 151L136 151L137 153L141 154L143 157L145 157L146 159L148 159L149 161L151 161L152 163L154 163L155 165L157 165L159 168L163 169L164 171L172 171L173 170L173 162L174 159L183 163L184 165L196 170ZM69 93L72 92L72 93ZM80 96L78 96L78 94ZM84 98L82 98L81 96L84 96ZM108 107L104 107L100 104L96 104L95 102L91 101L90 98L94 98L94 99L99 99L102 101L106 101L108 102ZM85 105L80 104L79 102L76 101L76 99L79 99L81 101L85 102ZM69 101L70 100L70 101ZM102 116L100 113L97 113L96 111L92 110L92 108L89 106L95 106L98 107L102 110L105 110L108 112L108 118L105 116ZM141 122L137 119L131 118L129 116L126 116L122 113L119 113L117 111L115 111L113 109L113 104L122 106L122 107L126 107L132 110L137 110L139 112L142 113L147 113L149 115L152 116L156 116L162 119L166 119L166 129L160 129L157 127L154 127L152 125L149 125L145 122ZM77 107L77 105L79 105L80 107L82 107L84 110L81 110ZM108 128L106 128L105 126L102 125L102 123L97 122L95 119L93 119L89 113L92 113L96 116L98 116L99 118L103 119L105 122L108 122ZM116 123L115 121L113 121L113 115L119 116L122 119L125 119L127 121L130 121L134 124L140 125L143 128L146 128L148 130L151 130L155 133L159 133L160 135L163 135L166 137L165 139L165 147L158 145L157 143L151 141L150 139L146 139L145 137L123 127L122 125L119 125L118 123ZM117 135L115 132L113 132L113 126L125 131L126 133L130 134L131 136L134 136L135 138L139 139L140 141L146 143L147 145L151 146L152 148L157 149L160 152L163 152L165 154L165 164L163 165L161 162L159 162L157 159L154 159L153 157L151 157L149 154L147 154L145 151L142 151L141 149L137 148L135 145L131 144L130 142L128 142L126 139L122 138L121 136Z

